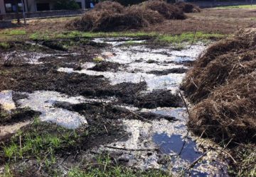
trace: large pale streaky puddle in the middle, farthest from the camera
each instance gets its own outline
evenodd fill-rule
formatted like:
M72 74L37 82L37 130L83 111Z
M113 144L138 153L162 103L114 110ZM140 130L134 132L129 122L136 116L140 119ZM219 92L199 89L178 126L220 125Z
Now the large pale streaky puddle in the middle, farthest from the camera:
M105 40L95 40L98 42L107 42ZM113 39L110 38L112 44ZM118 40L119 41L119 40ZM119 41L120 42L120 41ZM141 42L134 41L134 42ZM183 63L193 61L206 47L202 44L187 47L181 51L171 49L150 49L144 45L132 46L114 46L110 50L103 50L100 58L105 62L114 62L123 64L118 72L96 72L90 70L94 66L93 63L82 64L81 70L73 68L59 68L59 72L77 72L88 75L102 75L110 80L111 84L120 84L123 82L139 83L146 81L147 89L168 89L175 92L185 74L183 73L167 73L157 76L149 74L151 71L165 71L167 69L183 68L188 69Z

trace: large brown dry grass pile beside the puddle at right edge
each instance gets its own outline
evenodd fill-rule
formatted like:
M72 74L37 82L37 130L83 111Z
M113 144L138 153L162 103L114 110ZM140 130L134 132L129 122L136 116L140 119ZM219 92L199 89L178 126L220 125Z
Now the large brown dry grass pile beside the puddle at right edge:
M218 142L256 140L256 28L208 47L181 86L196 105L189 127Z

